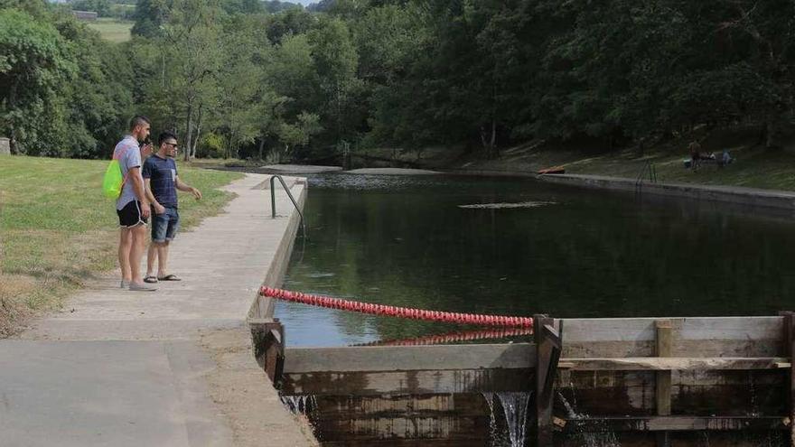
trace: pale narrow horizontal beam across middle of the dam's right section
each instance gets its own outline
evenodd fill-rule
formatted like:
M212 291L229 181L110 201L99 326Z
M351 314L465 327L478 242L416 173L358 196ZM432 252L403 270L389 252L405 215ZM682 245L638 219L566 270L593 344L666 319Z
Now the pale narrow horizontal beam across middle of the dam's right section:
M766 358L654 358L627 359L561 359L572 371L670 371L699 369L781 369L790 368L790 359Z

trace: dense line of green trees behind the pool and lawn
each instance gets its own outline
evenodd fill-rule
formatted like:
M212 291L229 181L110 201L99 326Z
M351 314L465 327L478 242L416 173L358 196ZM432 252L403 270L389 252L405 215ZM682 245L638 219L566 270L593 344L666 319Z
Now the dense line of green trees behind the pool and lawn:
M790 0L139 0L122 45L39 1L0 5L0 132L31 154L107 154L133 112L188 156L494 156L700 125L775 147L795 102Z

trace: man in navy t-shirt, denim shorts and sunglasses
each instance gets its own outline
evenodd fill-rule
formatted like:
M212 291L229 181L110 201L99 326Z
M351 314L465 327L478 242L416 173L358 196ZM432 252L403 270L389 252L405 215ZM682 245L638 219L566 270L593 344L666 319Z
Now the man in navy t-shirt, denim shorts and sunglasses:
M160 149L144 163L146 197L152 203L152 244L146 256L147 283L158 281L181 281L177 275L168 273L168 247L180 226L177 211L177 190L191 192L196 200L201 191L183 183L177 174L177 137L163 132L157 138ZM157 275L154 275L154 260L157 259Z

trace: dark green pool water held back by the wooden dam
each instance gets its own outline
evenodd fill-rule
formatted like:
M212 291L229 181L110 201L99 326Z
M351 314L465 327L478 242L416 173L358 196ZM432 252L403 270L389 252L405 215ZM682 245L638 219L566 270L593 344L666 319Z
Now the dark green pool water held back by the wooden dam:
M466 209L551 202L534 208ZM452 312L555 317L795 309L791 216L516 179L312 177L285 288ZM466 328L279 303L290 346Z

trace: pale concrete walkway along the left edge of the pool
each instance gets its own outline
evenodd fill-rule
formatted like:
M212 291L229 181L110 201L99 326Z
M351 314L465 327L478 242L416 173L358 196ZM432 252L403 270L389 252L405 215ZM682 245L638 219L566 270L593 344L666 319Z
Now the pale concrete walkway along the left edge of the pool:
M271 219L267 178L234 182L225 214L176 238L169 265L182 282L136 293L108 276L0 340L0 444L315 445L257 367L245 322L295 230L284 192L285 217Z

